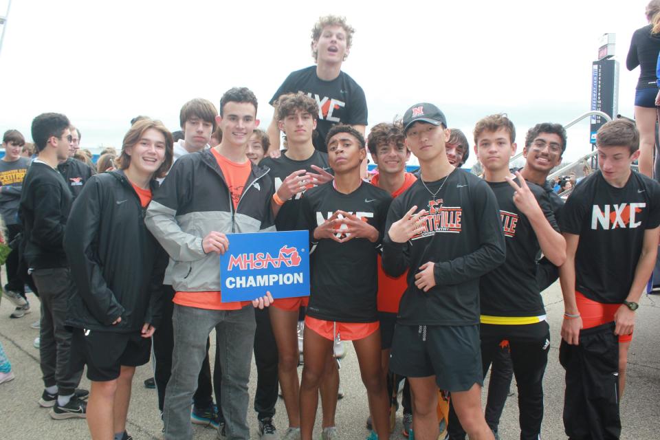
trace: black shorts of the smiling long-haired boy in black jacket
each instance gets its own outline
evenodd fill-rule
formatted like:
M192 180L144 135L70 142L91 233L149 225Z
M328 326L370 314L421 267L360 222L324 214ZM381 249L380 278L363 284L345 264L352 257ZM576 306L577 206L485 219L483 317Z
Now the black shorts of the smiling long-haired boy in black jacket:
M87 378L107 382L119 377L121 367L140 366L151 357L151 338L137 333L74 329L72 368L87 364Z

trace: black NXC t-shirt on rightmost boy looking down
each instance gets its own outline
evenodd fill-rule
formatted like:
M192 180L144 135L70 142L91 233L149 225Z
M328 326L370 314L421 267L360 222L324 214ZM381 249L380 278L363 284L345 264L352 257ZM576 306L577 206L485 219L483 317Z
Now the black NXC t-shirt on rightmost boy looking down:
M575 289L599 303L621 303L628 293L644 232L660 225L660 184L632 171L623 188L600 170L575 186L566 200L562 232L580 235Z

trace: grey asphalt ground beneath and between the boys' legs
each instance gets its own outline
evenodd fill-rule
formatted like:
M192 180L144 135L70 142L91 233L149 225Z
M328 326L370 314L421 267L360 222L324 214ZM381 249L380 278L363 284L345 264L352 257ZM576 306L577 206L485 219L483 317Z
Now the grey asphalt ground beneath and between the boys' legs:
M551 327L551 351L544 377L545 413L542 426L543 439L566 439L562 424L564 400L564 371L558 360L560 326L563 305L559 284L551 286L543 294ZM19 319L10 319L13 306L7 300L0 303L0 342L12 363L16 379L0 385L0 439L70 440L88 439L87 424L81 419L56 421L48 410L40 408L37 400L43 391L39 369L39 350L32 342L39 331L30 324L39 318L39 300L28 294L32 313ZM621 401L621 439L660 439L660 296L643 296L637 311L637 327L628 359L628 383L626 395ZM212 347L214 349L214 347ZM300 367L302 369L302 367ZM299 370L300 371L300 370ZM135 440L156 439L162 429L157 409L155 390L146 389L143 381L151 377L151 364L137 369L133 382L133 396L129 409L127 430ZM352 345L347 343L347 356L340 371L342 388L346 396L337 407L337 426L342 439L364 439L368 432L365 420L368 415L366 394ZM89 389L83 377L80 385ZM254 397L256 368L252 364L250 397ZM500 421L500 439L518 439L518 402L515 380L511 385L514 396L509 397ZM485 397L483 399L485 401ZM275 423L282 432L287 427L284 402L276 406ZM250 405L248 422L252 438L258 439L256 413ZM317 417L315 438L320 438L320 411ZM401 410L397 414L397 426L391 439L404 439L401 433ZM195 439L216 438L212 428L194 426Z

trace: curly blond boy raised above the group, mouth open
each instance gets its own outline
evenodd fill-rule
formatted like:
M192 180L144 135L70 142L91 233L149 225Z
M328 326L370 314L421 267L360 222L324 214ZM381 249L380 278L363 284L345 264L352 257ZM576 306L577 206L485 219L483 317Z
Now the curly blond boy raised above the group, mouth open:
M342 63L349 56L355 29L345 17L327 15L320 17L311 30L311 54L316 66L296 70L287 76L270 100L276 107L280 96L303 92L318 104L318 136L314 147L327 153L325 144L328 131L335 124L349 124L364 136L367 124L366 98L362 87L348 74L342 72ZM277 109L268 127L270 150L273 156L280 154L280 131Z

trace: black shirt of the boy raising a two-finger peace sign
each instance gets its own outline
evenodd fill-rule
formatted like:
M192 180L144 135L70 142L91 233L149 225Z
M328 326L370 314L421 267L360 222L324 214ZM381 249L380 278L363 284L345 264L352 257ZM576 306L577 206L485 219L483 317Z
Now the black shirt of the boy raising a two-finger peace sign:
M518 179L514 179L518 183ZM503 265L481 277L481 322L516 324L516 320L490 322L487 316L532 318L545 315L536 283L536 254L540 245L529 219L513 201L514 188L509 182L488 182L500 208L500 219L507 243L507 259ZM553 206L547 193L538 185L527 183L546 219L557 231ZM525 322L531 323L531 322Z

